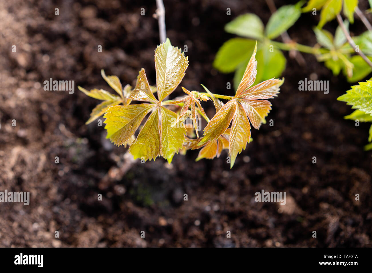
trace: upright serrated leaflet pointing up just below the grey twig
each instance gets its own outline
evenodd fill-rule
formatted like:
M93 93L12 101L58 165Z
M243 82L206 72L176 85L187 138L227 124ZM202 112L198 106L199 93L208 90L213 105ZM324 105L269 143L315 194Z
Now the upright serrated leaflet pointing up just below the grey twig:
M162 101L180 84L187 68L187 57L167 38L155 49L155 70L158 99Z

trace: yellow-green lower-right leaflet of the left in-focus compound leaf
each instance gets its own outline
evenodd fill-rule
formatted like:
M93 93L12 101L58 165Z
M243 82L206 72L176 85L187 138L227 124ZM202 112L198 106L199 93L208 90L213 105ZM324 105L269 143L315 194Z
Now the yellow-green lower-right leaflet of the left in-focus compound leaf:
M170 163L174 153L178 153L182 149L185 141L186 128L182 121L174 121L178 116L173 111L160 107L161 113L161 155ZM174 125L173 125L174 124Z

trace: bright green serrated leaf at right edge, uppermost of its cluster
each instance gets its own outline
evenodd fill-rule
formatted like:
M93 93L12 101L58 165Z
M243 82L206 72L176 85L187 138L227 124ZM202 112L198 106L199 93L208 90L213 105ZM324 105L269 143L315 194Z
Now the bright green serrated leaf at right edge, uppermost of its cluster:
M352 105L353 109L372 114L372 80L359 82L359 85L353 85L351 88L337 100L345 101L347 105Z

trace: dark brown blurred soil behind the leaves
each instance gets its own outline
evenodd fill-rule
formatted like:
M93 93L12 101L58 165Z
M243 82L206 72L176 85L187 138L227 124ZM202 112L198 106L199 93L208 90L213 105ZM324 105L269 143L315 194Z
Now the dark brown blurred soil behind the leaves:
M360 2L365 10L367 1ZM295 1L275 1L277 7L287 3ZM188 46L182 86L202 91L199 84L204 84L212 92L232 95L226 82L233 75L212 68L218 48L234 37L224 32L224 25L246 12L266 24L266 2L166 0L165 7L171 43ZM363 151L369 125L356 127L343 119L352 109L336 98L350 84L314 56L303 54L306 65L300 66L285 52L285 82L267 117L274 126L252 130L254 141L231 170L226 151L199 162L198 151L175 155L171 165L162 158L132 162L123 156L123 146L105 139L103 126L84 124L99 102L77 85L114 92L100 69L118 75L124 86L135 84L144 67L155 84L155 9L155 0L0 0L0 191L31 193L28 206L0 204L0 246L371 246L372 158ZM303 14L289 35L314 45L317 20ZM334 32L335 27L333 22L326 29ZM351 30L359 34L364 27L358 21ZM298 81L313 72L330 80L329 94L298 91ZM74 80L74 94L44 91L49 78ZM171 96L181 94L178 87ZM202 105L214 115L212 103ZM317 164L312 164L313 156ZM261 189L285 191L286 205L254 202Z

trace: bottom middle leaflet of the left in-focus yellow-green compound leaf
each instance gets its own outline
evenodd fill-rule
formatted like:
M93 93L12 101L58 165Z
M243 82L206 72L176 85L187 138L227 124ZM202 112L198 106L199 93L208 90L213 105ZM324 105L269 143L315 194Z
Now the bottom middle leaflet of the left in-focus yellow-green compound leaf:
M153 111L142 127L137 139L129 147L134 159L154 159L160 155L160 132L158 110Z

